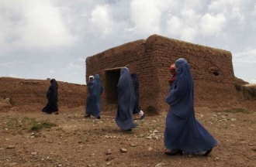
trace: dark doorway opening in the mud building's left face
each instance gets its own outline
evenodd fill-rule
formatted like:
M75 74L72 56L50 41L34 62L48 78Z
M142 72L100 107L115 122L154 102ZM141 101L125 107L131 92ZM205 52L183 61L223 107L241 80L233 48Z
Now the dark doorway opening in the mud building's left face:
M105 70L106 77L106 103L112 107L117 107L117 83L120 77L120 70L122 67L116 67Z

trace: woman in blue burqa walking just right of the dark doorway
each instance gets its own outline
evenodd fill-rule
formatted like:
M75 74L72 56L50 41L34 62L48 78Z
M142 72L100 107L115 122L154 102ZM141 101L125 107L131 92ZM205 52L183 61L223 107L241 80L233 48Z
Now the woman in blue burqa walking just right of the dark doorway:
M133 109L136 98L133 90L133 80L127 67L123 67L120 71L117 90L118 110L115 119L116 124L125 131L132 131L133 128L137 127L137 124L133 122Z

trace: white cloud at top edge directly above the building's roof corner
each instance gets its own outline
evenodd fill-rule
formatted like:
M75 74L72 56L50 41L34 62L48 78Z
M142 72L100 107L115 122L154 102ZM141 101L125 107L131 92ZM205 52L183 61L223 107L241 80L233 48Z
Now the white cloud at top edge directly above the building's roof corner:
M177 0L133 0L130 2L130 22L133 26L126 28L125 32L136 35L161 34L163 14L177 7Z

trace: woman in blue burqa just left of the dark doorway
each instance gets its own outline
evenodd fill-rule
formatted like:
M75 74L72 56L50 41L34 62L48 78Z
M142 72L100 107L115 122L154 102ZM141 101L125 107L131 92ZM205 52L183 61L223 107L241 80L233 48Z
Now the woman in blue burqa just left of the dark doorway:
M101 99L100 96L103 92L102 82L99 78L99 74L89 77L87 83L88 97L86 98L86 110L85 118L90 118L91 115L97 119L100 119L101 112Z

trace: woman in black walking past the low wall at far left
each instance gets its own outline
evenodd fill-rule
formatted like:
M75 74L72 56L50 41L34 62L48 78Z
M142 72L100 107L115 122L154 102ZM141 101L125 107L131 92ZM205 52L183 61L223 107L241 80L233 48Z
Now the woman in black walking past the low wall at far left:
M47 90L47 100L48 103L45 107L43 107L43 112L47 114L52 114L55 112L55 114L59 114L58 110L58 86L57 81L55 79L50 80L50 87Z

